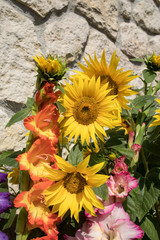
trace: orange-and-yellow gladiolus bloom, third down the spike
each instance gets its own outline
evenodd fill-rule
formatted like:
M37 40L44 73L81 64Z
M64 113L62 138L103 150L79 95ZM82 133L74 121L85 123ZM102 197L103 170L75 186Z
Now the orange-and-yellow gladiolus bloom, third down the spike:
M33 181L39 181L39 176L44 171L44 164L50 166L54 163L52 168L58 169L56 159L53 156L57 151L51 145L49 140L37 139L31 146L28 152L18 155L16 160L19 162L20 170L28 170Z

